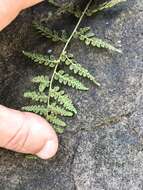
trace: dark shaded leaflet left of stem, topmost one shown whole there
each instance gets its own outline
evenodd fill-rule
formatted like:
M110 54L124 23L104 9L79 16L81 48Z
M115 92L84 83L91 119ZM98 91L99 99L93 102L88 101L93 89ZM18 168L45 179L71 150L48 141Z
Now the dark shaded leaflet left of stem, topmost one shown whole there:
M59 34L56 30L51 30L39 23L34 23L34 27L42 36L51 39L53 42L67 42L68 35L64 30L61 31L61 34Z

